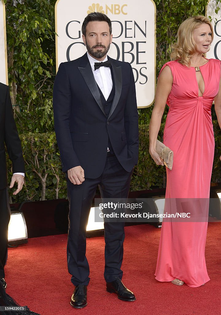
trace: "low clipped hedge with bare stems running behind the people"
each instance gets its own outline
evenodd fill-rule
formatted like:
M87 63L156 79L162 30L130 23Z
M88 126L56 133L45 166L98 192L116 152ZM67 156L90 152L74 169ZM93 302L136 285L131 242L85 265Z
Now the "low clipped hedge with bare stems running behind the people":
M215 156L212 182L221 182L220 160L221 131L217 121L213 121L215 135ZM157 166L148 152L149 126L140 125L139 160L134 168L130 191L152 189L166 186L165 167ZM164 124L161 124L158 139L163 139ZM58 146L54 133L22 134L23 154L26 174L23 190L17 196L10 191L11 202L23 200L49 200L66 198L66 181L61 169ZM11 162L8 160L8 172L12 175ZM9 180L10 180L9 176Z

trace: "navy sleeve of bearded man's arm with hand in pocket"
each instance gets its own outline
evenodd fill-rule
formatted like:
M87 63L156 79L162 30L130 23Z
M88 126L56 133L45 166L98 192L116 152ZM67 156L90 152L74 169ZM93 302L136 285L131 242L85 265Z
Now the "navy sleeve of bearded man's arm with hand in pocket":
M130 66L130 64L129 64ZM139 128L138 128L138 112L136 102L136 90L133 70L130 66L130 91L127 96L124 109L124 127L127 136L128 155L134 160L134 164L138 161L139 150Z

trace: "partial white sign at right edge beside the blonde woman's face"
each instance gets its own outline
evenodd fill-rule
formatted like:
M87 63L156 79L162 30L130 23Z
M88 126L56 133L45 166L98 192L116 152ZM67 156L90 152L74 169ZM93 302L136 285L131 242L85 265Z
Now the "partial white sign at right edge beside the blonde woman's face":
M207 58L215 58L221 60L221 3L218 3L219 11L217 9L216 0L208 2L207 5L207 17L212 19L212 25L214 30L213 43L210 46L210 50L207 53Z

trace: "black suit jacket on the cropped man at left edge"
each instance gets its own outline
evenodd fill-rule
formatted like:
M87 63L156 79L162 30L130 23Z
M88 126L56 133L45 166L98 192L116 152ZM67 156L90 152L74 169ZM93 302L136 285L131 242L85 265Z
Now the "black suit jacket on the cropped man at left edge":
M12 161L13 173L25 173L21 141L14 122L9 88L7 85L0 83L0 189L8 186L4 144Z

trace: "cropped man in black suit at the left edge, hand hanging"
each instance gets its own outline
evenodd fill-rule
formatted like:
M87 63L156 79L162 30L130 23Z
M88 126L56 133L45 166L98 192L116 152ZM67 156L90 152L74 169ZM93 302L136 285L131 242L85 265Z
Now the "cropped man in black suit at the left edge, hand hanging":
M0 83L0 282L6 288L4 266L8 247L8 223L10 220L10 207L8 202L8 180L5 155L5 145L8 156L12 161L13 176L10 188L18 183L13 195L22 189L25 176L25 163L22 155L21 142L14 122L13 109L9 88Z

